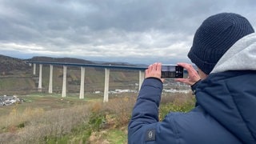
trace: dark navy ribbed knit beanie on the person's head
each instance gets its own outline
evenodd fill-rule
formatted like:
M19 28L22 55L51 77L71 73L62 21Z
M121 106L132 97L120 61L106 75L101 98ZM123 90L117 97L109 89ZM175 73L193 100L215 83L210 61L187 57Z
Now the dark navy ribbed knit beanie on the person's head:
M210 74L222 55L240 38L251 33L254 28L241 15L215 14L206 18L194 34L188 57L205 74Z

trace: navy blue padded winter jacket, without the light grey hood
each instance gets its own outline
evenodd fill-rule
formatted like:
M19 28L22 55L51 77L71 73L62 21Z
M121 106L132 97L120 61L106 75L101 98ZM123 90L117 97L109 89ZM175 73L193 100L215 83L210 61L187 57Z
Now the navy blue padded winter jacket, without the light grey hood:
M196 89L197 106L158 122L162 82L146 78L128 127L129 143L256 143L256 71L210 74Z

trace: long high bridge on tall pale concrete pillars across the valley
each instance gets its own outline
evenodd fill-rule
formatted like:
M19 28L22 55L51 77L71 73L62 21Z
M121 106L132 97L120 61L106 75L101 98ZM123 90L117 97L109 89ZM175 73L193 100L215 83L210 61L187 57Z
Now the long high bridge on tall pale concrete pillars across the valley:
M142 86L142 82L145 77L146 66L111 66L111 65L97 65L97 64L83 64L83 63L68 63L68 62L26 62L33 67L33 74L36 74L36 67L39 65L39 78L38 78L38 90L42 91L42 65L50 66L50 79L49 79L49 94L53 93L53 70L54 66L63 66L63 81L62 81L62 97L66 97L66 70L67 66L80 66L81 67L81 83L80 83L80 94L79 98L84 98L84 84L85 84L85 70L86 67L98 67L105 69L105 87L104 87L104 98L103 102L108 102L109 99L109 80L110 80L110 69L122 69L122 70L138 70L138 87Z

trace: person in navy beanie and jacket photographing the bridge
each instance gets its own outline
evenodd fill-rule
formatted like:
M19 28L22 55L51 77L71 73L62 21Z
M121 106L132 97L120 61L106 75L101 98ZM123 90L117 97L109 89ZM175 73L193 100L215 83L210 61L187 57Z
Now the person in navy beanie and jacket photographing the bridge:
M194 34L188 57L178 63L188 78L196 106L170 112L158 121L162 94L161 66L146 70L128 126L128 143L256 143L256 34L240 14L206 18Z

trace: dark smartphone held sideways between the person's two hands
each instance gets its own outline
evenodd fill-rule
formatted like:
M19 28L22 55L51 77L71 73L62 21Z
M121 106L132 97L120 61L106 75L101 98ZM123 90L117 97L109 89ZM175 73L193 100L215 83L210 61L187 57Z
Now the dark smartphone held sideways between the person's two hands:
M183 78L183 67L178 65L162 65L161 78Z

